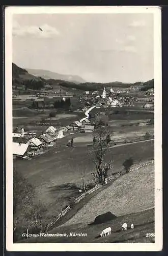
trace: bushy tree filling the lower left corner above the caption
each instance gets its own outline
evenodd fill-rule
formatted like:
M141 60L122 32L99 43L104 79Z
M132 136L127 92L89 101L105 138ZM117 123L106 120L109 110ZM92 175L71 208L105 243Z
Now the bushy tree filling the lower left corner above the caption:
M13 170L13 231L18 241L24 231L37 233L45 228L46 208L35 200L35 189L16 169Z

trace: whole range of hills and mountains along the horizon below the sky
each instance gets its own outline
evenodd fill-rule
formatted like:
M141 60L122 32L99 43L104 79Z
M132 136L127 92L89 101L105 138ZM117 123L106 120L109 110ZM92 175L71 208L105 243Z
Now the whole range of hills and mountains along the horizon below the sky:
M147 82L135 82L135 83L123 83L119 81L98 83L98 82L85 82L79 76L68 76L53 73L46 70L33 70L22 69L15 63L12 63L12 77L13 86L21 87L26 86L29 89L37 90L37 88L44 88L45 86L51 86L54 90L63 89L68 91L95 91L105 88L138 88L142 91L147 91L150 88L154 88L154 79ZM51 78L57 77L57 78ZM69 80L68 80L69 79ZM81 81L81 82L80 82ZM84 81L84 82L83 82ZM36 89L35 89L36 88Z

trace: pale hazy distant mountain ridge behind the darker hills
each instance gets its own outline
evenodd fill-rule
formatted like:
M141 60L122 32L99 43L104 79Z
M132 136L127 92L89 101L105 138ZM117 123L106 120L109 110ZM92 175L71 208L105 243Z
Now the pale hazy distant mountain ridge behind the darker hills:
M31 75L40 76L44 79L64 80L64 81L75 82L75 83L85 82L85 80L83 80L80 76L76 76L76 75L63 75L63 74L58 74L55 72L51 72L48 70L41 70L41 69L26 69L26 70Z

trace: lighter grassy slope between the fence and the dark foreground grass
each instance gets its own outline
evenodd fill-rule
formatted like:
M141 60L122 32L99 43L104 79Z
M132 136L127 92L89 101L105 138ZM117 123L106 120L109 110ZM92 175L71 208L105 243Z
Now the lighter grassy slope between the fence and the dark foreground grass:
M120 216L154 206L154 166L124 175L92 198L65 225L93 222L97 215L111 211ZM102 212L103 211L103 212Z

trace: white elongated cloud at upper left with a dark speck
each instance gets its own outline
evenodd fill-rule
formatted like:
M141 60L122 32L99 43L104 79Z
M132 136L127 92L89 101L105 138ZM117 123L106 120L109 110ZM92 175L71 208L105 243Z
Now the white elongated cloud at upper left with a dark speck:
M30 36L34 38L53 38L58 36L60 32L47 24L41 25L39 29L38 26L21 26L17 22L13 23L13 35L14 36Z

